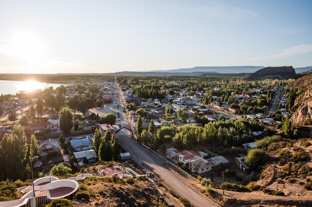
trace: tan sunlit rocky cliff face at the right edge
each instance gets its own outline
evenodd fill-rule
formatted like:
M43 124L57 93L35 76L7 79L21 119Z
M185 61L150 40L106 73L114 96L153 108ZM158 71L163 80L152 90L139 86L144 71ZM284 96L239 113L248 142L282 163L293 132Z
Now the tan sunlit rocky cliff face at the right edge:
M312 118L312 74L305 75L287 87L305 87L306 92L298 96L295 100L295 108L297 108L292 121L294 124L303 123L306 119Z

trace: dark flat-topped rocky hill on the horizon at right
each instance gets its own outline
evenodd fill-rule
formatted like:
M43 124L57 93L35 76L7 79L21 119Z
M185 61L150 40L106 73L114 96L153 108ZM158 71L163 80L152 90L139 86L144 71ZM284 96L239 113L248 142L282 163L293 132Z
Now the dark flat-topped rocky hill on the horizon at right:
M283 67L267 67L259 69L256 72L245 75L243 80L257 80L257 79L287 79L296 77L296 71L292 66Z

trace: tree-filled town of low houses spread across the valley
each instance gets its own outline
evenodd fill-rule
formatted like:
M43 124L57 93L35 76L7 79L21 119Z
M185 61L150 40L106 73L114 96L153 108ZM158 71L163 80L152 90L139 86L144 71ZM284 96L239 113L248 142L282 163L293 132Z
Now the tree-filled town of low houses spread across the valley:
M311 123L290 121L294 97L305 91L287 87L294 79L101 78L106 82L69 81L57 88L1 95L2 180L40 180L53 172L86 182L90 176L140 177L139 171L152 185L178 193L182 203L190 200L187 192L195 191L185 179L216 203L224 191L310 195L311 182L305 177L312 175L311 138L304 125ZM24 148L22 153L16 147ZM12 163L8 156L20 161ZM103 161L113 163L111 173L104 172ZM292 163L298 163L300 175L289 175L286 166ZM99 165L103 167L90 171ZM302 185L301 190L276 187L284 182ZM29 195L31 188L22 192ZM162 193L163 203L172 205L167 194ZM12 192L5 195L4 201L18 198ZM205 199L196 196L198 204Z

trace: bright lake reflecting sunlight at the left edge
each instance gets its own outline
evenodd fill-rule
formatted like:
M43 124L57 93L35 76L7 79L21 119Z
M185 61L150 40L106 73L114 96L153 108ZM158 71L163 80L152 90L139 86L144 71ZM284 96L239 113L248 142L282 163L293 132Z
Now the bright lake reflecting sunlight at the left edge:
M53 86L53 88L57 88L61 85L65 86L66 84L45 83L45 82L37 82L34 80L29 81L0 80L0 94L15 95L20 90L30 92L36 89L48 88L50 86Z

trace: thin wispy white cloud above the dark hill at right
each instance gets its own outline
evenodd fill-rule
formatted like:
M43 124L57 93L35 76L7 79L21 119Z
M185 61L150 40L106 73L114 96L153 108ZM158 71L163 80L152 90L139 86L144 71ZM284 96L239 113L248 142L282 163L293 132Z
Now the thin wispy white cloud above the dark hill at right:
M280 59L280 58L286 58L286 57L290 57L294 55L306 54L306 53L311 53L311 52L312 52L312 44L298 45L295 47L287 48L285 50L282 50L280 52L277 52L271 55L252 58L251 61Z

